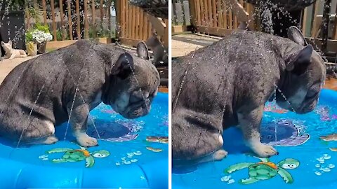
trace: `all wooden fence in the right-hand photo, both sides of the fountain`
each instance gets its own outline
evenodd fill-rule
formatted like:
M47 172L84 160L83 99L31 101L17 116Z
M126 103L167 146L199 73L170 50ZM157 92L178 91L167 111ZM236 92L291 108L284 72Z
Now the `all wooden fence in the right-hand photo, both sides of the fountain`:
M189 10L182 6L186 1L173 1L172 25L188 25L185 22L187 11L190 24L197 32L223 36L237 29L240 22L246 22L250 29L260 31L260 20L254 16L254 7L243 0L189 0ZM331 4L329 39L337 40L337 0ZM303 11L302 30L308 38L319 38L322 25L324 1L317 0ZM181 13L183 10L183 13ZM180 19L179 19L180 18ZM183 20L183 22L179 22Z

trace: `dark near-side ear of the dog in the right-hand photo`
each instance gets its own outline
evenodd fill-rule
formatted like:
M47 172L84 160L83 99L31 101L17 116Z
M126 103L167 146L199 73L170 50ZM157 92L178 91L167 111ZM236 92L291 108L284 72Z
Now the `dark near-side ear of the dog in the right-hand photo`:
M308 65L311 63L312 45L307 45L302 50L294 53L289 57L289 62L286 64L286 70L301 75L305 73Z

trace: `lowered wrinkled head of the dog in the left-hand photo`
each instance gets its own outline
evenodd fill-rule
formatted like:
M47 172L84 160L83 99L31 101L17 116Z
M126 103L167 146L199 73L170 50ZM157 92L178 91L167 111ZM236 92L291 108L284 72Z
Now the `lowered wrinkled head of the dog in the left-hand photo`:
M110 105L114 111L128 119L149 113L160 83L156 67L148 58L140 58L148 57L140 55L140 52L146 50L137 51L138 57L132 57L127 52L119 57L117 64L121 71L114 75L114 82L110 83Z

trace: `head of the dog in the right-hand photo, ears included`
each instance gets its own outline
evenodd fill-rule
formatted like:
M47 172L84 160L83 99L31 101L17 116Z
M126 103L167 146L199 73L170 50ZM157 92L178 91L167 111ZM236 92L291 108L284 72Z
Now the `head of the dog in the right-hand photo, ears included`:
M299 29L289 28L288 36L304 48L291 55L286 62L286 79L282 93L288 102L282 94L277 93L277 104L289 111L308 113L318 103L319 92L326 78L326 67L322 57L306 43Z

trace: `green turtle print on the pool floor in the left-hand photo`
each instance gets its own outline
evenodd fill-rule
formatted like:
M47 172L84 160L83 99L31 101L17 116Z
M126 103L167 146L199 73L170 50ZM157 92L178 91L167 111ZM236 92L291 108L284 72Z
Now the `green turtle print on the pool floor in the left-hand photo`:
M86 167L93 167L95 164L94 158L105 158L110 155L110 152L101 150L94 151L90 153L86 148L80 146L81 149L72 149L72 148L54 148L46 153L64 153L62 158L53 159L53 163L62 163L62 162L80 162L86 160Z

